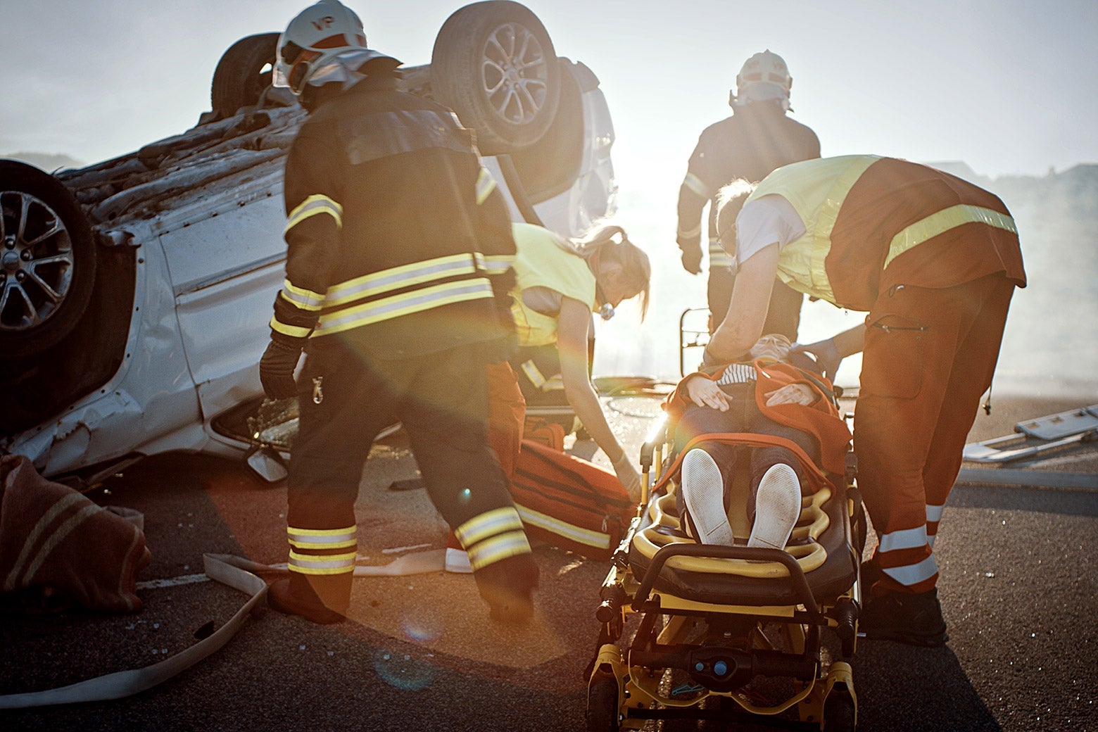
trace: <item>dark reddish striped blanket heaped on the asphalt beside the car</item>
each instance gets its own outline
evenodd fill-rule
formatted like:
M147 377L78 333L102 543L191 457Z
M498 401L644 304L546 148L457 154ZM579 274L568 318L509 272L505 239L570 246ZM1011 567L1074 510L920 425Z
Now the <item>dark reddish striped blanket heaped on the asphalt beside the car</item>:
M48 587L92 610L135 612L145 533L80 493L0 457L0 592Z

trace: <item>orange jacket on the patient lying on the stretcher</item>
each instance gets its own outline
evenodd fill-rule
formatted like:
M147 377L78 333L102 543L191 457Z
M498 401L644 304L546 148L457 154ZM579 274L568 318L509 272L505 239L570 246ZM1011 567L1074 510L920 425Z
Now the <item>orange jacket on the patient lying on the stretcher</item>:
M847 423L839 417L839 413L831 403L829 395L826 395L813 380L808 379L800 369L788 363L757 360L751 363L755 370L755 402L759 409L766 417L774 421L804 430L813 435L820 446L820 468L828 473L841 475L845 471L847 446L850 443L851 435ZM725 367L727 369L727 367ZM663 409L668 413L668 418L672 427L679 424L683 413L688 407L708 409L712 407L698 407L686 393L686 381L694 376L703 376L712 381L718 381L725 369L716 373L693 373L679 382L679 386L663 403ZM814 376L815 380L830 387L830 383L822 376ZM809 405L803 404L777 404L766 406L766 394L787 386L789 384L805 384L816 395L816 401Z

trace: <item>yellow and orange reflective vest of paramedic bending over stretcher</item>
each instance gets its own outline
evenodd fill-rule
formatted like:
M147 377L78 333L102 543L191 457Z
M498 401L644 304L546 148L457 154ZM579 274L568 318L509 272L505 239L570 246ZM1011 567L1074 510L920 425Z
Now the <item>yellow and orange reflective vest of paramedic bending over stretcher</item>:
M894 286L951 288L1002 272L1026 286L1018 229L995 194L941 170L850 155L768 176L747 203L786 199L805 235L782 247L778 278L840 307L869 311Z

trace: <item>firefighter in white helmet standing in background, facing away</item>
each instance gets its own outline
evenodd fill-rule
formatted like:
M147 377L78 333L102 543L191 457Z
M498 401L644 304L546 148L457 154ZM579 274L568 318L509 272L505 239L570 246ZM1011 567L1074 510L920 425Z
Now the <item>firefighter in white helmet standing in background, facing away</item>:
M820 156L816 133L786 116L792 86L781 56L769 49L751 56L736 76L736 92L728 94L732 116L702 132L679 189L677 241L683 267L692 274L702 271L702 211L709 204L709 333L725 318L735 279L717 240L717 191L733 180L760 181L775 168ZM796 340L803 300L775 282L763 331Z

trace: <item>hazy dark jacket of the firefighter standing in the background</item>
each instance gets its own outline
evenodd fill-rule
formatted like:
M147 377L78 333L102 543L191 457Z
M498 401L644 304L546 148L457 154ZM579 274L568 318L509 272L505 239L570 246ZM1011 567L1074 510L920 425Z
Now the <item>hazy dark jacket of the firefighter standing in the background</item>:
M820 143L807 126L769 102L753 102L702 132L679 190L679 248L702 240L702 210L721 187L738 178L758 182L775 168L820 156ZM709 268L731 263L717 243L717 211L709 206Z

